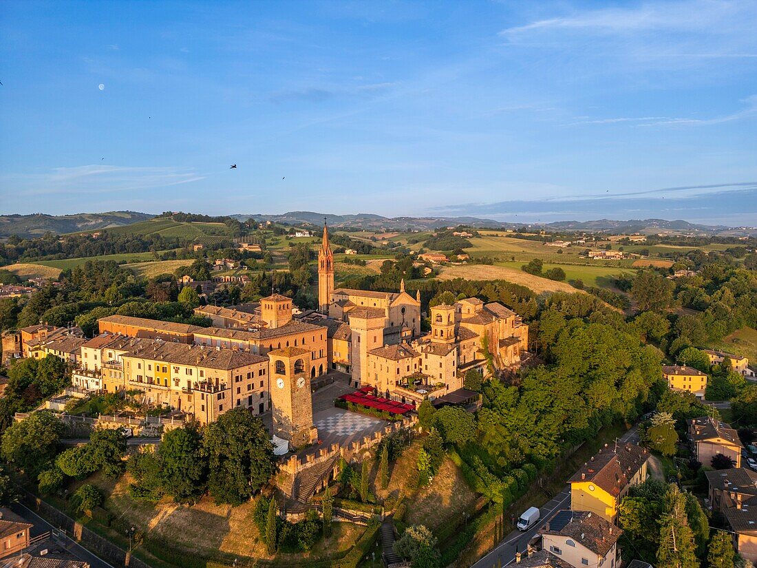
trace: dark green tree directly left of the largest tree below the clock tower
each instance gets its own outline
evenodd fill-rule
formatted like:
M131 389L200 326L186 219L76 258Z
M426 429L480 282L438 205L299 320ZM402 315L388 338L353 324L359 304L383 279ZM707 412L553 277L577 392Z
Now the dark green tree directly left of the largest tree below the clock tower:
M160 444L160 477L176 503L194 503L205 492L207 462L194 426L166 432Z

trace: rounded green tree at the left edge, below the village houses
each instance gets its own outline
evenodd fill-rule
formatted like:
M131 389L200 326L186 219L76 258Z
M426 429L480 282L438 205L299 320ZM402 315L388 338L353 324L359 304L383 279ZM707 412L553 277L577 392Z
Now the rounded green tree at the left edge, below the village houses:
M63 431L63 424L49 410L35 412L5 430L2 457L36 479L58 453Z

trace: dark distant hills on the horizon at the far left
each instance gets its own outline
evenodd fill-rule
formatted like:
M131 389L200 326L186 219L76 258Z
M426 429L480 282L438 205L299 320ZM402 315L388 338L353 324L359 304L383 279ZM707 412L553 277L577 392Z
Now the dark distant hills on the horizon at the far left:
M75 215L2 215L0 236L42 236L51 233L77 233L106 227L125 226L151 219L154 215L135 211L108 211L107 213L77 213Z

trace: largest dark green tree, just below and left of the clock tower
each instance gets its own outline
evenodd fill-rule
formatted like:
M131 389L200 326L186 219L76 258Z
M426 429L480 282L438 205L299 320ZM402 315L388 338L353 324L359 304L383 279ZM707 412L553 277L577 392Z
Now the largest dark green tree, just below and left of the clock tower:
M217 503L243 503L276 473L268 430L245 408L229 410L207 426L203 451L208 489Z

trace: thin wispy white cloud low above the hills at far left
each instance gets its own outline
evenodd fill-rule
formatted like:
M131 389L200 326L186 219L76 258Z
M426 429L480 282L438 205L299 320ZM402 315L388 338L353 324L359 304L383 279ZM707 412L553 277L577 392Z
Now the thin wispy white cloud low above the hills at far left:
M89 164L55 167L45 173L0 176L9 189L23 189L26 195L103 194L160 189L192 183L206 176L177 167L131 167Z

